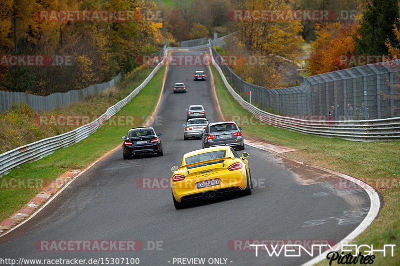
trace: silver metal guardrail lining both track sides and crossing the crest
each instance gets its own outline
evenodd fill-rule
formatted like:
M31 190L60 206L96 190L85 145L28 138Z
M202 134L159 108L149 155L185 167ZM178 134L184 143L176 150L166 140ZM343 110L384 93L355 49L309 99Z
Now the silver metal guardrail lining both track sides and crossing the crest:
M112 115L116 114L123 106L125 106L148 83L148 81L154 76L154 74L164 63L168 51L187 51L208 47L210 54L212 54L211 46L209 44L190 48L166 48L165 46L166 42L164 43L164 46L162 48L164 56L161 62L157 64L157 66L153 69L153 71L151 71L146 79L128 96L126 96L115 105L109 107L104 114L102 114L96 120L87 125L78 127L64 134L42 139L0 154L0 175L21 164L45 157L59 148L67 147L73 143L79 142L80 140L86 138L88 135L93 133L97 128L101 127ZM243 98L233 90L233 88L226 80L226 77L223 74L221 68L215 62L213 56L211 56L211 58L212 64L217 69L219 75L223 80L223 83L225 84L226 88L233 96L233 98L237 102L239 102L239 104L244 109L248 110L251 114L258 117L266 124L270 124L275 127L286 128L301 133L320 135L325 137L338 137L355 141L400 139L400 117L375 120L312 121L275 115L260 110L243 100Z

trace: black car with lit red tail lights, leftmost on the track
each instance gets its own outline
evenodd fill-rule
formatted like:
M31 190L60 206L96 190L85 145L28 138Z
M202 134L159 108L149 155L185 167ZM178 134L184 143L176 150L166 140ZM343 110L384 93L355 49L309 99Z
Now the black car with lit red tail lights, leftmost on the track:
M137 127L128 131L122 144L123 159L128 159L135 155L154 154L162 156L162 133L155 133L152 127Z

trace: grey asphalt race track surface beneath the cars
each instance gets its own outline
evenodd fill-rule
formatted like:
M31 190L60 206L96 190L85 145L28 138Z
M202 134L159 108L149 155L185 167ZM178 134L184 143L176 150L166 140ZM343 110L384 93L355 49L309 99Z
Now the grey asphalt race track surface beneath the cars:
M204 70L207 80L194 81L195 70ZM270 257L266 251L259 251L255 257L253 250L235 250L240 246L232 243L244 243L234 240L337 243L353 231L370 206L365 191L335 189L332 181L300 184L279 157L249 145L244 151L250 154L251 176L256 181L250 196L233 196L176 211L170 188L160 188L157 183L152 183L150 189L141 188L143 178L169 179L169 169L180 164L184 153L201 148L200 140L183 141L185 109L190 104L202 104L210 122L220 119L209 75L206 66L169 66L154 125L156 132L163 133L164 155L123 160L121 150L117 149L104 157L43 211L0 238L1 257L139 258L139 265L146 266L177 265L173 258L205 258L204 265L209 265L209 258L227 259L226 264L231 266L300 265L311 257L306 253L301 257L282 254ZM187 92L173 94L175 82L184 82ZM143 248L134 252L49 252L35 248L35 243L42 240L138 240Z

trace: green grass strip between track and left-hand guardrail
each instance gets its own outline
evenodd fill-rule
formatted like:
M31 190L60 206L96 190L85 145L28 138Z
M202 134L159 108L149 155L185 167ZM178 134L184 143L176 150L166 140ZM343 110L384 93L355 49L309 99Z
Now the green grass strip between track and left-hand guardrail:
M161 67L148 84L116 115L134 115L144 118L151 115L161 91L164 71L165 67ZM124 85L132 91L143 79L130 82L130 85ZM140 120L138 120L138 123L134 123L134 125L139 126ZM53 154L38 161L12 169L7 175L0 178L0 182L9 178L30 178L43 180L42 187L44 187L67 170L83 169L89 166L105 152L121 143L121 136L125 135L131 127L130 125L103 126L78 143L56 150ZM4 185L2 184L0 188L0 221L18 211L42 190L42 188L8 189Z

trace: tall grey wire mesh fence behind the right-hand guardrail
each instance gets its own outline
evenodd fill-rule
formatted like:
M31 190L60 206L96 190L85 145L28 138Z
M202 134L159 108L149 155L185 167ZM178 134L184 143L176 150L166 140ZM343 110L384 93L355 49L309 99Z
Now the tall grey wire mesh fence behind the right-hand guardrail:
M221 42L209 41L211 47ZM306 120L400 117L400 60L314 75L299 86L276 89L245 82L226 64L220 67L244 99L251 93L252 104L276 114Z

